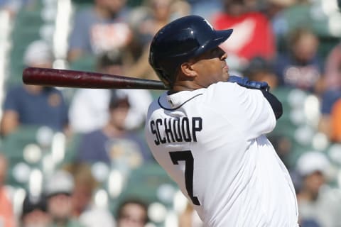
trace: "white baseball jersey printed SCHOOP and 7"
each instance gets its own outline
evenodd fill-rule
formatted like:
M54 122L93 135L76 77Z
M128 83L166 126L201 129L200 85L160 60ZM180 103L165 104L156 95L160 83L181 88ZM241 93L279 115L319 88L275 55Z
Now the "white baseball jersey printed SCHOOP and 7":
M298 226L291 177L264 135L275 126L261 91L218 82L162 94L145 133L205 226Z

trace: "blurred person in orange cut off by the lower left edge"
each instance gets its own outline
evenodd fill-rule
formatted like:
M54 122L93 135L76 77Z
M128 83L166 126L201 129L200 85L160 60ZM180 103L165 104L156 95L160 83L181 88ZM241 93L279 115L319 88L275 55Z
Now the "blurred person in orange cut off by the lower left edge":
M5 185L7 168L8 160L0 152L0 226L15 227L16 218L13 213L13 204Z

